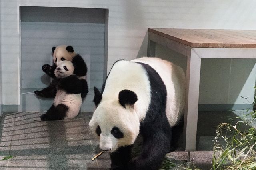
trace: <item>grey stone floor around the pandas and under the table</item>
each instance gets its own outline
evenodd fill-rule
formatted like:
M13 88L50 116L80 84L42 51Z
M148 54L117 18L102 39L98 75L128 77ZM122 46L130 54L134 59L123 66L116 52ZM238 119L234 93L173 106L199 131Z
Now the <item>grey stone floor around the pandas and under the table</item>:
M91 112L82 112L68 121L40 121L40 112L5 113L0 122L0 156L15 156L0 161L0 170L108 170L110 159L100 152L98 141L90 133ZM191 152L193 164L209 170L212 139L221 122L236 117L233 112L199 112L197 150ZM181 139L182 141L182 139ZM180 149L179 149L180 150ZM183 164L187 152L171 152L167 157ZM175 169L175 168L174 168Z

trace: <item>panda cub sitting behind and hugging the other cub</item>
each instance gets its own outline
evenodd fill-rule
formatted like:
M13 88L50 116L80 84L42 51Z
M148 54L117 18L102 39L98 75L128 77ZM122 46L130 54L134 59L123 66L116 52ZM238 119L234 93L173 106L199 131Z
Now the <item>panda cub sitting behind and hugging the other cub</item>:
M74 74L78 76L80 79L86 79L87 66L84 62L84 59L79 54L74 52L72 46L61 45L57 47L52 47L52 56L53 56L53 65L44 64L42 66L42 70L48 74L51 78L53 78L52 83L42 89L41 91L36 90L34 93L40 97L55 97L56 95L56 85L58 84L58 79L54 74L54 70L60 61L71 61L75 65ZM84 98L86 89L82 92L81 96Z

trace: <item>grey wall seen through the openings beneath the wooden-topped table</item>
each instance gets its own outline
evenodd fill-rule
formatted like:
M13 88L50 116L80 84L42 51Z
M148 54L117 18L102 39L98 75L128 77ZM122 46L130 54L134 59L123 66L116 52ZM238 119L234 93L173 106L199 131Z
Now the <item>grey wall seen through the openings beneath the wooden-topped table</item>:
M156 57L170 60L186 72L186 56L156 44ZM202 58L199 110L251 108L255 81L255 59Z

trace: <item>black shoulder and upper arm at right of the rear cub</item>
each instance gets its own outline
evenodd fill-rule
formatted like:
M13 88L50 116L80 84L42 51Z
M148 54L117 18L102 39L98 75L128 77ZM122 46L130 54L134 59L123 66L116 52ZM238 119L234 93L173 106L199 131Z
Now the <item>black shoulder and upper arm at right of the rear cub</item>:
M76 74L76 76L85 76L87 73L87 66L84 62L84 59L77 54L76 56L74 56L72 63L74 65L74 74Z

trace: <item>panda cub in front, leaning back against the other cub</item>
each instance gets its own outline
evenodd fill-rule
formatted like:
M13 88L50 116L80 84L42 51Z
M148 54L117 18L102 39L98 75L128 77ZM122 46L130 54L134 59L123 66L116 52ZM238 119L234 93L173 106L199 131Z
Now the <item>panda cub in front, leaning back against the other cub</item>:
M58 63L54 74L58 78L57 92L50 109L41 116L41 120L66 120L78 115L82 104L81 92L85 88L88 93L86 80L74 75L75 67L70 61Z

